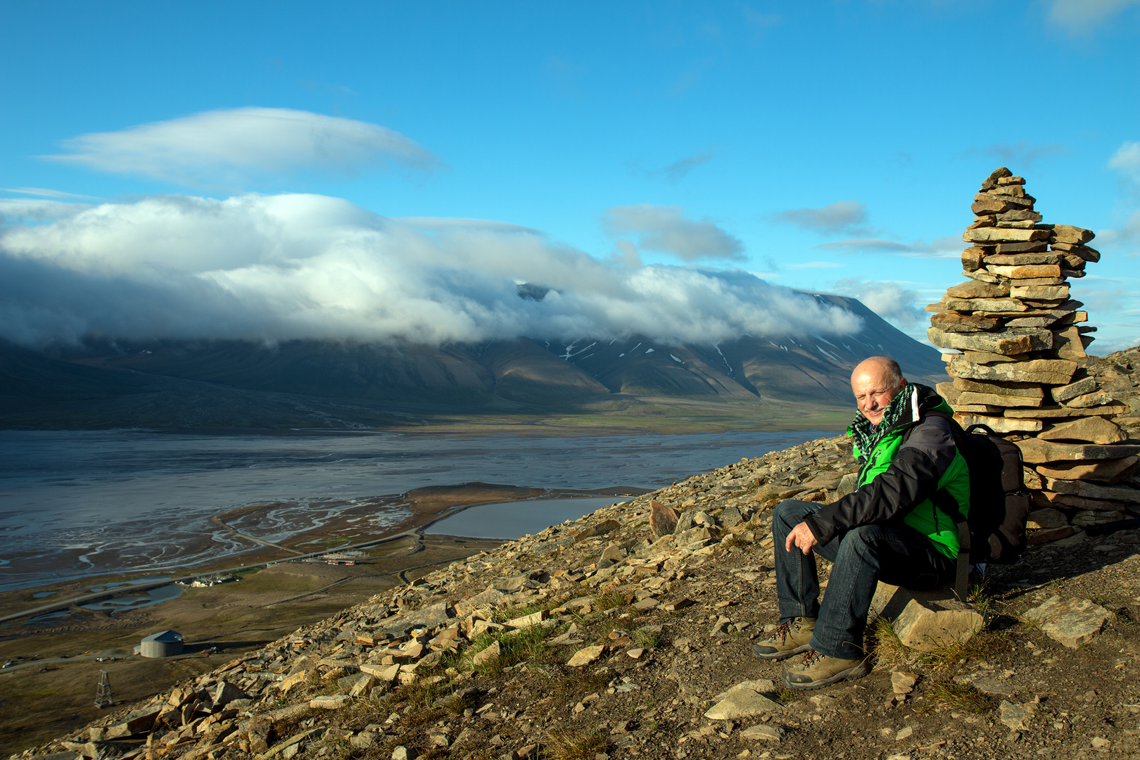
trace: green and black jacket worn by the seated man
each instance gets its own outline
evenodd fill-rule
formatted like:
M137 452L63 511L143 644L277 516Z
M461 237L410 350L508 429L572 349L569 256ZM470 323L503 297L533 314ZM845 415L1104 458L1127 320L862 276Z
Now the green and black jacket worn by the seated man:
M951 423L937 410L953 415L942 397L926 385L911 385L906 410L872 451L860 451L858 488L805 518L820 544L858 525L903 522L930 539L947 557L958 556L954 518L930 497L945 488L964 517L970 508L970 475L954 446ZM850 435L850 430L848 430ZM905 440L904 440L905 439Z

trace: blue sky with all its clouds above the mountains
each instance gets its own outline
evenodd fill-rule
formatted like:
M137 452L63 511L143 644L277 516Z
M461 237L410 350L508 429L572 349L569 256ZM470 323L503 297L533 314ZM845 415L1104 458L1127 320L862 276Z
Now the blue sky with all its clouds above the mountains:
M1092 350L1140 342L1134 0L3 0L0 28L10 340L850 329L780 286L921 337L1005 165L1098 234Z

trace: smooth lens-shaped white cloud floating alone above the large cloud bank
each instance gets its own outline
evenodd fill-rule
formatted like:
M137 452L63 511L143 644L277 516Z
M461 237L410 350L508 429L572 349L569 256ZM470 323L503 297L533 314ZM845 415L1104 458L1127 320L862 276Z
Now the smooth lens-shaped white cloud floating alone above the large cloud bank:
M291 108L209 111L64 141L44 156L98 171L188 183L242 186L295 170L356 173L397 163L431 170L439 160L399 132Z

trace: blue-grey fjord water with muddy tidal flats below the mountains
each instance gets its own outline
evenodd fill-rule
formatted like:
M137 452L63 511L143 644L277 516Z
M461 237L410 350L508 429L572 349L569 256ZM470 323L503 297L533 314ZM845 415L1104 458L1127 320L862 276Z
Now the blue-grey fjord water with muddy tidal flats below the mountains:
M0 589L106 572L169 572L236 557L250 545L210 517L247 505L276 505L241 522L242 531L268 541L319 528L351 509L356 536L364 539L408 516L397 497L414 488L482 481L618 493L622 487L659 488L825 434L0 431ZM383 496L391 498L377 498ZM520 501L500 509L496 530L504 538L534 532L534 520L523 517L540 505ZM575 516L597 506L591 500ZM561 514L551 514L551 522L565 520ZM437 530L455 534L445 528L450 522Z

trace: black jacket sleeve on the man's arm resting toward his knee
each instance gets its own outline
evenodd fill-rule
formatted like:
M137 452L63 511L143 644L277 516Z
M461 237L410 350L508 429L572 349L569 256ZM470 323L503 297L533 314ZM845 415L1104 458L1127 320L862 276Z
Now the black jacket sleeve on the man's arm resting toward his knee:
M926 417L911 431L890 466L870 483L805 517L820 544L857 525L902 517L930 498L958 449L945 417Z

